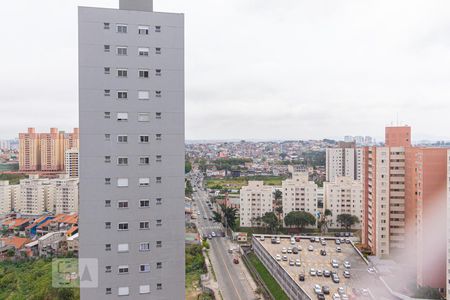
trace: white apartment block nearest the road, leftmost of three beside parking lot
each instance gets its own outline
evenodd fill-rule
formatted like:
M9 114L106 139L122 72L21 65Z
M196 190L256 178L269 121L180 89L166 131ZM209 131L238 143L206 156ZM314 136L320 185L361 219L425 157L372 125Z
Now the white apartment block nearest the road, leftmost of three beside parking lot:
M273 211L275 187L264 185L264 181L249 181L240 190L240 225L261 226L259 217Z

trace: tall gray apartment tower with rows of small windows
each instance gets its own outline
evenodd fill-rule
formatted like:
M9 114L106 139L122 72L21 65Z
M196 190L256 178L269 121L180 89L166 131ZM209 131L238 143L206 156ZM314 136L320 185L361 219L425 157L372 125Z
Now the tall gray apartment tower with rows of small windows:
M81 299L184 299L184 16L78 13Z

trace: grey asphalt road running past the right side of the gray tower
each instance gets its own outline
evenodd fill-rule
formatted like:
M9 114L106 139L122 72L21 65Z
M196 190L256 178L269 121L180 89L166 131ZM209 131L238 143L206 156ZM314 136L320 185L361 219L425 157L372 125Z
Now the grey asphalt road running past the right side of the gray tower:
M206 191L194 186L196 209L200 211L198 215L198 229L201 234L211 234L212 232L224 232L221 224L209 221L212 211L208 208L206 201L208 195ZM205 220L203 217L206 216ZM224 300L248 300L252 299L253 291L247 284L243 284L238 266L233 264L233 255L228 253L229 243L224 237L215 237L209 240L211 263L216 274L220 292ZM240 262L242 263L242 262Z

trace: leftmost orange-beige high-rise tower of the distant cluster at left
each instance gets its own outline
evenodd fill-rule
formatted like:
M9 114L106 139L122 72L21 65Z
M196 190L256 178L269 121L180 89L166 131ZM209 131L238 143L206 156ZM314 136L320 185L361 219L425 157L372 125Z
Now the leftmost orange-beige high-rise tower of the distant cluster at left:
M19 170L37 171L40 169L39 134L34 128L27 133L19 133Z

